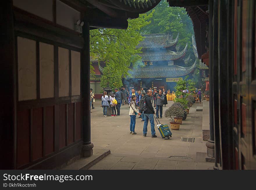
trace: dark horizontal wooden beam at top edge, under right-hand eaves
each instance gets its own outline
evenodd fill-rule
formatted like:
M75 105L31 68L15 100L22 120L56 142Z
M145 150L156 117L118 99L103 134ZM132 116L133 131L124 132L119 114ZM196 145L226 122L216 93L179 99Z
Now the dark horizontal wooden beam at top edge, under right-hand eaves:
M167 0L170 7L192 7L208 5L208 0Z

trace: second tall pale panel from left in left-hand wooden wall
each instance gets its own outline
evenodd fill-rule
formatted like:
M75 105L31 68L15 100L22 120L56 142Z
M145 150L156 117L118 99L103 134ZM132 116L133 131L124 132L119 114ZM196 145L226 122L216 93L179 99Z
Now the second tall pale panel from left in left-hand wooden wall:
M54 46L39 43L40 98L54 97Z

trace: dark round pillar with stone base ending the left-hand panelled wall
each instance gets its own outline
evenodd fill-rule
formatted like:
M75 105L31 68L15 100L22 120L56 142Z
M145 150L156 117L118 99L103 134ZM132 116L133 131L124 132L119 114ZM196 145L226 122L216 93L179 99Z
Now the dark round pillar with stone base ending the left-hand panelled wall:
M82 156L93 155L91 142L91 113L90 113L90 26L84 22L84 45L81 52L81 97L82 97Z

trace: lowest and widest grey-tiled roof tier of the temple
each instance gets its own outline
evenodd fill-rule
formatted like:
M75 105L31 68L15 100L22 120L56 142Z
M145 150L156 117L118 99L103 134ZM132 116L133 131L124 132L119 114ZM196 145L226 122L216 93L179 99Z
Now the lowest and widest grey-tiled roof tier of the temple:
M196 62L190 67L178 65L142 67L129 71L131 78L166 78L179 77L191 73L196 67Z

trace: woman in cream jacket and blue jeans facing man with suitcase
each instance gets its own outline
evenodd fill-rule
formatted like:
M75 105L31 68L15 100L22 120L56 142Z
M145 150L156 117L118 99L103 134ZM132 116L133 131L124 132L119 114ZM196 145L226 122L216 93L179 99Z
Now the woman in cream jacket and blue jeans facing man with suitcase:
M138 114L139 116L141 113L139 113L136 109L136 95L131 96L131 102L129 103L130 106L130 111L129 115L131 117L131 123L130 123L130 134L137 134L135 130L135 124L136 124L136 115Z

